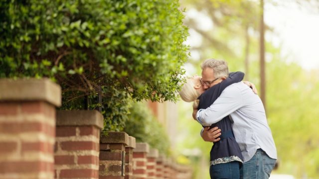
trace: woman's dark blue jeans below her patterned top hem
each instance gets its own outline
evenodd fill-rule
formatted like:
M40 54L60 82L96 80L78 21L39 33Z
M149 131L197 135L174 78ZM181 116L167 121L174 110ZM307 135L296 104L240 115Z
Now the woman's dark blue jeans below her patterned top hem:
M211 179L239 179L239 163L235 161L211 165L209 174Z

